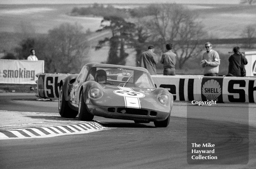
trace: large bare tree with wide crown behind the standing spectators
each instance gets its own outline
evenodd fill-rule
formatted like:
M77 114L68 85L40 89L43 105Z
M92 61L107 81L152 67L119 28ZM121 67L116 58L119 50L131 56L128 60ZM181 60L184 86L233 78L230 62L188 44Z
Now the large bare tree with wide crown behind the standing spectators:
M148 22L152 40L159 42L162 51L165 44L172 42L177 54L179 68L192 57L201 52L199 40L205 37L203 25L198 16L178 4L159 4L154 16Z

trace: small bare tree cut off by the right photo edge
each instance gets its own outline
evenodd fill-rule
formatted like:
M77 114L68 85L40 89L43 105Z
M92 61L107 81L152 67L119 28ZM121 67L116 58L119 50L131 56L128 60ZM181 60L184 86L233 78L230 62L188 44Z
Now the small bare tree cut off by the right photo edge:
M255 43L255 38L256 38L255 26L256 26L255 24L247 25L241 34L243 37L247 38L246 45L248 48L252 48L253 44Z

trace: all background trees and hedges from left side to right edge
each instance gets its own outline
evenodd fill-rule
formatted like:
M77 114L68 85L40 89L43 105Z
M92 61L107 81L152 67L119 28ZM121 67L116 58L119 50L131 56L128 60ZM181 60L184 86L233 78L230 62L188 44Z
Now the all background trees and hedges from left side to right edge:
M198 14L181 4L154 4L129 10L93 4L87 8L74 8L71 13L103 16L102 30L111 31L111 37L100 40L95 50L109 46L108 64L125 65L129 56L127 48L134 49L138 59L149 44L154 45L160 55L165 51L165 44L173 43L177 67L181 69L190 58L200 55L202 41L208 39ZM28 51L34 48L38 58L45 60L46 73L78 73L88 58L87 35L91 33L82 30L79 24L63 23L49 30L47 35L25 38L15 49L15 57L26 59ZM247 38L247 47L253 47L255 25L245 26L242 36ZM11 57L9 54L5 59Z

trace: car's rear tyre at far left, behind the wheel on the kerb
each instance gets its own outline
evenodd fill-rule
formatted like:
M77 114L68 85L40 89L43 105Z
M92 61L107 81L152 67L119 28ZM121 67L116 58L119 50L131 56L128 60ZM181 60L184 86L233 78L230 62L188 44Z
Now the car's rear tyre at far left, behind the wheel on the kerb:
M65 100L64 93L63 93L63 86L60 87L58 108L59 108L59 113L61 117L75 118L77 115L77 111L71 109L68 106L68 101Z

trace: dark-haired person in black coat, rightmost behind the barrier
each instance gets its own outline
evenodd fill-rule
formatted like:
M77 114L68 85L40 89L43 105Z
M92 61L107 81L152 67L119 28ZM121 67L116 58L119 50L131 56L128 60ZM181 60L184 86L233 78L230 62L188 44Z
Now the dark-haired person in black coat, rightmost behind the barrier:
M242 53L240 53L240 48L238 46L233 48L234 54L232 54L229 58L229 64L228 64L228 74L227 76L238 76L241 77L241 65L242 63L244 65L247 65L248 61L243 56Z

